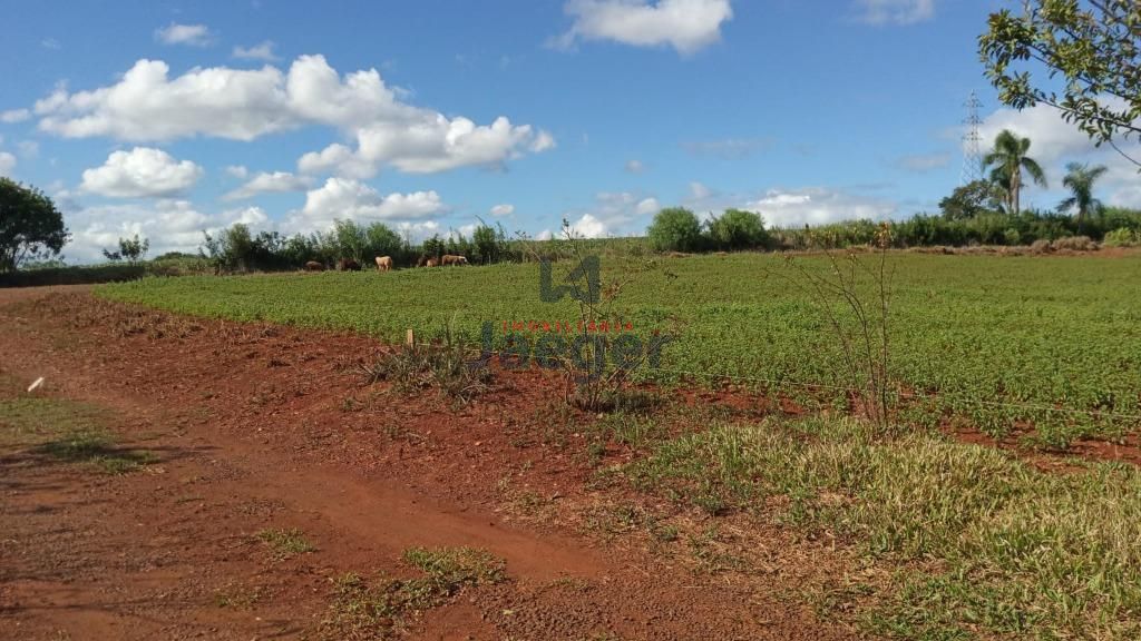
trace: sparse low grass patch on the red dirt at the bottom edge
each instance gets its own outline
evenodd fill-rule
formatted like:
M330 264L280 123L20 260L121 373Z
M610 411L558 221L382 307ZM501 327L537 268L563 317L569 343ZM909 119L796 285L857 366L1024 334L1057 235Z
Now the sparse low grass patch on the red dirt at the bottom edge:
M507 579L501 559L472 547L413 547L404 560L423 576L373 585L357 574L337 578L334 601L321 626L324 638L389 639L406 627L408 617L445 603L464 587Z

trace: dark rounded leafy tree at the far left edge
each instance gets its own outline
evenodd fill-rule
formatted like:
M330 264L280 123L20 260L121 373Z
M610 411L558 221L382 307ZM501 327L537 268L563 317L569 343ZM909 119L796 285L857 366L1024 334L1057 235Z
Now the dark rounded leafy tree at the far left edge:
M27 260L59 255L71 238L51 198L35 187L0 178L0 273Z

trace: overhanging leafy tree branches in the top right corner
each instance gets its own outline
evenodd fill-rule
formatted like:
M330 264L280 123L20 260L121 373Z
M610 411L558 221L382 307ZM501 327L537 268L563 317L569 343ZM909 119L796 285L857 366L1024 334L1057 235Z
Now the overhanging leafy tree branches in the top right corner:
M1138 163L1114 143L1115 136L1141 135L1136 0L1027 0L1019 16L990 14L988 27L979 55L1000 100L1019 109L1050 105L1098 145L1108 143ZM1044 79L1031 76L1035 63ZM1058 76L1065 82L1054 82Z

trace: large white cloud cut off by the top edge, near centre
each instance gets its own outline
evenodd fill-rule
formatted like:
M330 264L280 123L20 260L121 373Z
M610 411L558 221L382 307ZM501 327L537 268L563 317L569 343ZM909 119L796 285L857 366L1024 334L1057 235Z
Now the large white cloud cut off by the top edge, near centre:
M574 24L550 41L563 49L580 40L612 40L693 54L720 40L721 23L733 18L729 0L569 0L563 9Z

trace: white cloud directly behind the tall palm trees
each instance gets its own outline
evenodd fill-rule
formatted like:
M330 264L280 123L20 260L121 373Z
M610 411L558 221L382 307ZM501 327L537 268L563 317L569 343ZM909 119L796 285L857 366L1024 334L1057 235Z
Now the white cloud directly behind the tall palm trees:
M1063 121L1058 109L1049 105L1036 105L1021 112L1008 108L995 111L979 127L984 153L1003 129L1030 139L1027 155L1038 161L1046 173L1049 189L1028 185L1027 193L1022 196L1025 206L1053 209L1066 195L1062 178L1069 162L1106 165L1109 171L1094 186L1098 197L1110 205L1141 206L1141 188L1138 187L1141 176L1138 175L1138 167L1108 145L1095 147L1075 124ZM1118 147L1141 161L1141 144L1134 140L1119 143Z

